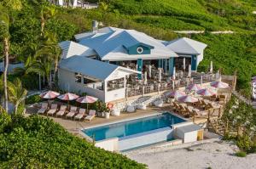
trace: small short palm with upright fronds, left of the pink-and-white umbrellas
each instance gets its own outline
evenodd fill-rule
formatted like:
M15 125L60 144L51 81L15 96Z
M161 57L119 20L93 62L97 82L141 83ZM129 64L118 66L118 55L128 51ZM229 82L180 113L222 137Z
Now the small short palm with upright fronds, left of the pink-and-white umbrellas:
M19 78L16 78L14 83L9 82L8 84L9 99L15 104L15 114L19 108L20 103L26 99L26 89L22 87Z

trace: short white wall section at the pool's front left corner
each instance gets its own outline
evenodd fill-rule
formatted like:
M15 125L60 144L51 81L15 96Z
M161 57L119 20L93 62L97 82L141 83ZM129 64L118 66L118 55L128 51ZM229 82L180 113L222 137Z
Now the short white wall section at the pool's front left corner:
M119 138L109 138L97 141L95 146L112 152L119 151Z

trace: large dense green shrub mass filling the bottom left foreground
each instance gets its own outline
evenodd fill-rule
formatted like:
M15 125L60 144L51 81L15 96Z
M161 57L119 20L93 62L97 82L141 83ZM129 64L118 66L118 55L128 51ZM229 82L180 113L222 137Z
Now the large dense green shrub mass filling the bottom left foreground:
M38 115L14 115L8 124L8 130L0 132L0 168L145 168Z

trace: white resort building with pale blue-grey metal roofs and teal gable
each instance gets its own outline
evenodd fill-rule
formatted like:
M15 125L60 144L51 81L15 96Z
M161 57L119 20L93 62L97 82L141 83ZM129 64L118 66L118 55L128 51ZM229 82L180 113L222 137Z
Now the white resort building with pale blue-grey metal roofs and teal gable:
M94 21L92 31L76 35L77 42L60 43L59 86L106 103L172 87L181 60L186 70L191 65L196 71L207 47L189 38L163 42L143 32L97 25Z

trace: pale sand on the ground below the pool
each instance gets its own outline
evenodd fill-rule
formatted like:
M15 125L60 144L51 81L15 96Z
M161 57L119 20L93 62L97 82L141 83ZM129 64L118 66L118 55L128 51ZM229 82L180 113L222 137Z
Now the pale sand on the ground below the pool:
M192 149L192 150L191 150ZM168 146L154 145L123 153L129 158L148 165L148 168L256 168L256 154L236 157L237 147L218 139L194 144Z

